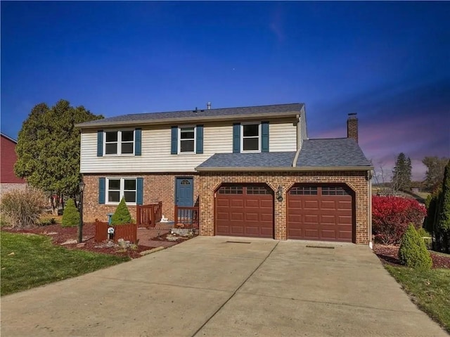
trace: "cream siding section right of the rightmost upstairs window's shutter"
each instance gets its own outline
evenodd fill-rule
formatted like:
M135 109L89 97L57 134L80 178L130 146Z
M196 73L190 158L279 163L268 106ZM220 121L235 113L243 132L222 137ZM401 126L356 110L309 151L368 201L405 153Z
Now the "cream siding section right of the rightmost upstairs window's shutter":
M269 151L297 151L297 125L293 122L270 123Z

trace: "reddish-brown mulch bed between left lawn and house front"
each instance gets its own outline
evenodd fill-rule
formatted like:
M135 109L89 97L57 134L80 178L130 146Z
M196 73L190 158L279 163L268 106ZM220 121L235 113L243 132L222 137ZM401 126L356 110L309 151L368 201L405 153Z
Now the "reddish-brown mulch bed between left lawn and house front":
M52 242L55 245L61 245L69 240L77 240L78 238L78 228L77 227L61 227L60 224L50 224L47 226L33 227L30 229L13 229L8 227L2 227L2 231L9 231L11 233L31 233L31 234L42 234L51 236ZM105 253L110 255L118 256L129 256L132 259L141 257L140 254L143 250L149 250L151 248L156 248L161 245L155 245L155 247L140 246L137 248L120 248L120 247L98 247L103 246L101 243L94 241L95 235L95 224L84 224L83 226L83 243L84 245L78 245L77 243L65 244L63 247L69 249L87 250L94 253ZM155 241L167 241L166 235L161 235L154 239ZM176 243L183 242L185 240L171 241Z

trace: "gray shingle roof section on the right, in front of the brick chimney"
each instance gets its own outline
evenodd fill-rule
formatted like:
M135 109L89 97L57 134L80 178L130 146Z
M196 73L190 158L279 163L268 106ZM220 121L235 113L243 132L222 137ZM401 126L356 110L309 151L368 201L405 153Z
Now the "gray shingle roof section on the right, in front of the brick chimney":
M307 139L297 159L297 167L371 166L352 138Z

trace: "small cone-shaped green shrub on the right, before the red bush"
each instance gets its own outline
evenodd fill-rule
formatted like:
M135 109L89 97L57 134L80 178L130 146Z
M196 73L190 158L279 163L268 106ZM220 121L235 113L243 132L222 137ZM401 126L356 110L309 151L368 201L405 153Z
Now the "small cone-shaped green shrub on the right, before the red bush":
M430 269L432 260L423 239L412 224L408 226L401 237L399 248L399 260L405 265L415 269Z

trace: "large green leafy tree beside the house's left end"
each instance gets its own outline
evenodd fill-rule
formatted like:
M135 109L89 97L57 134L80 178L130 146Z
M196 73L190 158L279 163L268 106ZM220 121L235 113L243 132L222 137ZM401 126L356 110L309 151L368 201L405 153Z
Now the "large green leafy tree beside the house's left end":
M53 213L58 212L59 196L75 199L78 193L80 135L75 124L99 118L103 116L60 100L51 108L37 104L23 122L15 147L15 174L57 196L56 201L52 198Z

